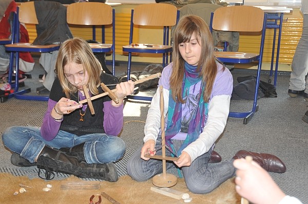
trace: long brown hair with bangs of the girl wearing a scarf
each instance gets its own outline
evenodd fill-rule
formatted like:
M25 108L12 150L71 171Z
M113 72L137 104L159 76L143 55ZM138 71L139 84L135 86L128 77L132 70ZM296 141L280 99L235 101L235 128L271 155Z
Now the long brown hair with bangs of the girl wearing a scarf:
M170 89L172 98L184 103L182 97L182 82L184 78L184 59L179 51L179 44L189 42L192 34L196 35L201 46L201 55L198 62L197 71L200 71L202 81L206 82L204 90L204 102L208 102L213 89L215 77L217 75L217 64L214 57L214 44L211 33L206 22L196 15L183 16L175 29L175 37L172 51L173 68L170 77Z

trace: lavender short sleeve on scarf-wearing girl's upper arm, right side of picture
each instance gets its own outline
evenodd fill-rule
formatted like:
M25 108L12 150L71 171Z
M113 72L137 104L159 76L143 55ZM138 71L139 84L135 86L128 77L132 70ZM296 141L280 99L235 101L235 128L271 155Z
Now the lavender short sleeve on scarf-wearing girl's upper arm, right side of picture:
M213 89L211 92L210 99L214 96L219 95L232 95L233 91L233 77L230 71L225 68L223 70L223 65L217 63L218 65L218 73L214 81Z

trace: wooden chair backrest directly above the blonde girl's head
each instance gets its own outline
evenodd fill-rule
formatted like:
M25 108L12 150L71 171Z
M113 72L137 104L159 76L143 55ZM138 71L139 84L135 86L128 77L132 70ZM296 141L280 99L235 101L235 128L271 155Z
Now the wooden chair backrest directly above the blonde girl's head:
M67 23L74 25L112 24L111 6L98 2L73 3L67 7Z

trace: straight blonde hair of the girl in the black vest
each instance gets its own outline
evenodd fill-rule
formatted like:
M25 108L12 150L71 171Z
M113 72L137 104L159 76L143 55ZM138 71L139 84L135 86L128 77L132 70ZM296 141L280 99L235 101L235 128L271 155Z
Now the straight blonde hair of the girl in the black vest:
M70 62L83 65L84 71L87 72L89 79L86 83L87 87L92 94L98 95L102 65L94 56L87 41L75 37L64 41L59 49L55 63L55 71L67 98L70 98L70 95L78 91L78 88L71 85L64 75L64 66Z

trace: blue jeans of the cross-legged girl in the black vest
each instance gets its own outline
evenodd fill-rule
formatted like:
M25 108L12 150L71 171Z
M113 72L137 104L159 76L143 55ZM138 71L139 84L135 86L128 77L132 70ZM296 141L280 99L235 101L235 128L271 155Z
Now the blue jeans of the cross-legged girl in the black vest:
M77 136L59 130L53 140L45 141L38 127L13 126L2 134L2 140L7 148L20 154L30 163L35 162L34 159L40 154L45 145L60 149L85 143L84 154L88 164L115 162L125 152L125 143L122 139L103 133Z

